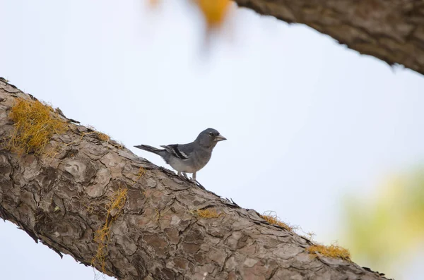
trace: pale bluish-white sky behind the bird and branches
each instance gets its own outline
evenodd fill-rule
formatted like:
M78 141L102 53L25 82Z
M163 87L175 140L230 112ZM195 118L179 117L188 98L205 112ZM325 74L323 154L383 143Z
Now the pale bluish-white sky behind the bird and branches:
M218 129L228 141L199 181L326 243L339 238L343 196L366 201L382 178L424 159L422 75L245 8L207 53L194 6L144 4L0 0L0 76L161 166L132 146ZM10 223L0 223L0 248L0 279L93 279Z

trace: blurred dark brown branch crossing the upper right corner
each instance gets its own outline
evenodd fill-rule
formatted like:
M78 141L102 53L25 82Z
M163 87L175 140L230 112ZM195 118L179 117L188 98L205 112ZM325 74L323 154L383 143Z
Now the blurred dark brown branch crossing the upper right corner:
M287 23L304 23L341 44L424 74L423 0L235 0Z

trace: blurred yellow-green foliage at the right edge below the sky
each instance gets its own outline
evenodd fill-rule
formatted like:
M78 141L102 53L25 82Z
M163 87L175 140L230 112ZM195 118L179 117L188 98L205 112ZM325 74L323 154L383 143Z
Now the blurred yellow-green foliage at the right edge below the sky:
M344 207L353 260L396 275L424 242L424 169L389 178L372 197L349 197Z

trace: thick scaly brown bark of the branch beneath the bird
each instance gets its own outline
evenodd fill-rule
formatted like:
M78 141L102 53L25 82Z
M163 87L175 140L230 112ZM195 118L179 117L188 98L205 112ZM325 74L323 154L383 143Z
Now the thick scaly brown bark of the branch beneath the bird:
M32 97L0 79L1 139L13 130L8 110L16 98ZM118 279L385 279L353 262L313 257L305 250L307 238L95 133L81 137L88 128L69 127L46 147L61 147L57 154L0 150L0 217L59 255L90 265L108 197L121 186L128 197L112 222L106 258L106 273ZM137 178L140 167L146 172ZM206 208L220 217L192 214Z

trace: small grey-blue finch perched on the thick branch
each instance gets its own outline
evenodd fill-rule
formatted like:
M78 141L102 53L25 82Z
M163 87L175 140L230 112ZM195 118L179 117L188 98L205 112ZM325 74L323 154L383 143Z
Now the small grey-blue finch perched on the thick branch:
M167 164L177 171L177 175L189 181L196 181L196 173L204 168L212 156L212 150L220 141L227 138L220 135L218 130L207 128L199 133L196 140L188 144L161 145L163 149L158 149L149 145L136 145L134 147L147 152L153 152L162 157ZM192 174L192 179L187 176Z

